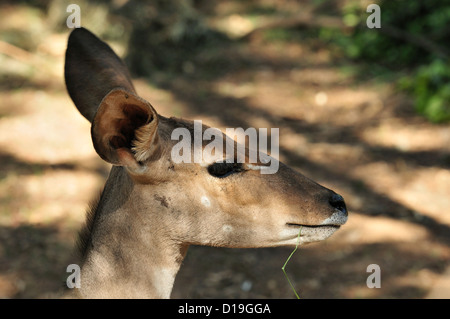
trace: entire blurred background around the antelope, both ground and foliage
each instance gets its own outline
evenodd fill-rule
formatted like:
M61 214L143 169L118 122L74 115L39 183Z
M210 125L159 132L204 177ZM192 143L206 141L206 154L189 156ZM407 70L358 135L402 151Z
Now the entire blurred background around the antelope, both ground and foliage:
M64 285L109 171L65 90L74 2L0 4L0 298ZM371 3L381 29L366 25ZM448 2L76 4L159 113L280 128L280 159L344 196L348 223L286 267L300 297L450 297ZM295 298L281 271L291 251L191 247L172 296Z

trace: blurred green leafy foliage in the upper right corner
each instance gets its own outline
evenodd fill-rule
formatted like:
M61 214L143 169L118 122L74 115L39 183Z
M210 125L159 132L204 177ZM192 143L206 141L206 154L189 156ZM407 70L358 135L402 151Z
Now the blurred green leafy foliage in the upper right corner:
M361 2L343 8L343 21L355 27L352 34L339 30L321 30L320 37L340 48L347 58L385 73L404 74L399 86L412 94L418 112L432 122L450 121L450 5L446 1L380 1L381 28L391 26L417 41L366 27L367 13ZM382 32L384 31L384 32ZM430 50L418 42L426 39L444 49ZM367 68L362 68L367 70Z

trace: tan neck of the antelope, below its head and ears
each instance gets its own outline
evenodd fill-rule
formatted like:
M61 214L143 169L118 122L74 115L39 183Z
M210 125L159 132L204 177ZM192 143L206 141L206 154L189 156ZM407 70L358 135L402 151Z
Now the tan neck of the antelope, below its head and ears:
M187 246L167 237L158 207L141 212L126 173L113 168L92 220L81 265L82 298L169 298ZM127 187L124 190L124 183ZM117 185L121 185L119 190ZM99 222L101 221L101 222ZM74 288L77 289L77 288Z

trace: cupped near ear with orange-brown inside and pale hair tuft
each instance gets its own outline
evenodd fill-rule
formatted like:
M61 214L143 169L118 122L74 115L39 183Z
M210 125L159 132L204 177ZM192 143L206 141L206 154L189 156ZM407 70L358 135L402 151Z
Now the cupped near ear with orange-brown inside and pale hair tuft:
M105 161L135 172L160 154L158 115L144 99L114 89L101 101L91 127L92 141Z

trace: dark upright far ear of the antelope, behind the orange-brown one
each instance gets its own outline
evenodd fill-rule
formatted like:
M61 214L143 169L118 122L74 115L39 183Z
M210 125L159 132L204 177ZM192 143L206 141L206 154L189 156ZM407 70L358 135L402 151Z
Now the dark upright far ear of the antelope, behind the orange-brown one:
M112 89L122 87L135 93L122 60L106 43L84 28L74 29L69 36L64 76L70 97L89 122Z

